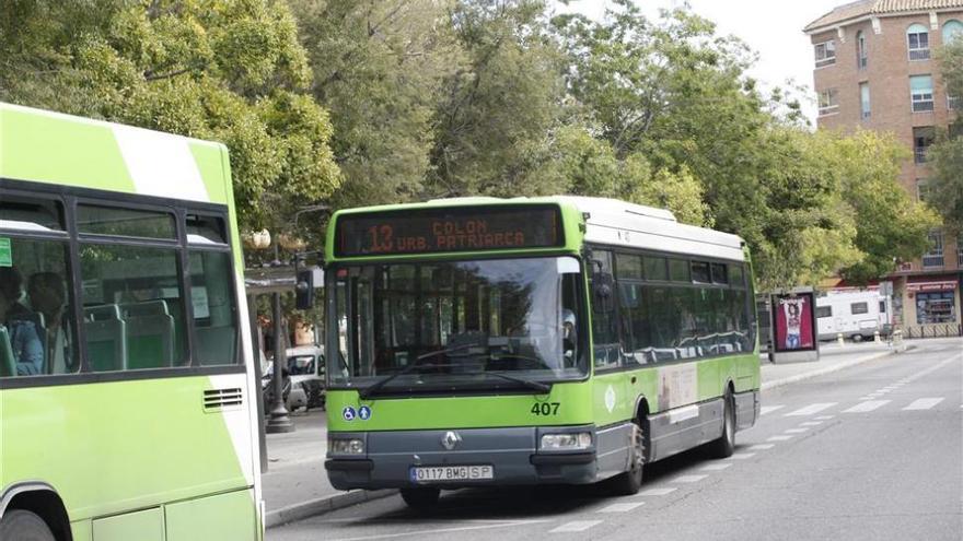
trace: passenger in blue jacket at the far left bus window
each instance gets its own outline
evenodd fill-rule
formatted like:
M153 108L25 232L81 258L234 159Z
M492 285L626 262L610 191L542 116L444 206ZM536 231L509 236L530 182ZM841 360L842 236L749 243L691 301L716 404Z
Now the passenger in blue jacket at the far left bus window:
M44 346L34 314L20 303L23 277L13 267L0 267L0 325L7 327L18 376L44 373Z

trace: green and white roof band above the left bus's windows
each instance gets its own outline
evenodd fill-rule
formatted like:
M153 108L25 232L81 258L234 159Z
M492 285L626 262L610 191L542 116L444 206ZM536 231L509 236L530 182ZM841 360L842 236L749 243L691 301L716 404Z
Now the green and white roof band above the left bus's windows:
M0 103L0 178L231 204L223 144Z

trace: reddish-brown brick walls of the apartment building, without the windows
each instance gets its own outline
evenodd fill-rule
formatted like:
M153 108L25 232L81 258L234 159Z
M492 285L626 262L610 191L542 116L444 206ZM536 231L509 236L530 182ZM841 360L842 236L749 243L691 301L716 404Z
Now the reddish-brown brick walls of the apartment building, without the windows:
M865 1L837 8L805 28L813 47L833 42L835 62L815 67L813 71L816 95L827 90L836 91L837 107L821 110L817 118L820 129L852 131L858 128L893 133L910 151L916 149L916 136L928 134L932 130L947 130L955 110L950 108L945 89L939 75L939 66L933 58L943 43L944 25L950 21L963 23L963 2L950 9L936 11L880 12L879 2ZM905 2L909 8L912 0ZM834 16L834 13L836 16ZM910 25L923 25L929 42L929 59L913 59L909 55L907 31ZM865 39L866 64L859 61L859 36ZM925 56L917 52L917 57ZM814 59L815 62L815 59ZM914 111L910 99L910 78L930 75L932 78L932 110ZM869 89L869 115L863 116L861 106L861 84ZM963 96L961 96L963 97ZM925 104L920 104L925 106ZM961 99L960 107L963 107ZM923 163L920 163L923 162ZM906 191L917 198L919 179L926 179L930 170L925 163L925 152L906 161L900 183ZM925 188L924 188L925 189ZM929 303L931 295L927 287L918 284L954 283L953 324L961 328L961 289L963 289L963 247L958 245L955 232L942 231L943 258L926 258L904 263L891 277L896 292L894 302L897 308L896 324L908 331L920 332L927 327L926 316L917 317L917 308L927 310L924 299ZM940 264L941 263L941 264ZM949 278L949 280L948 280ZM918 296L924 292L923 297Z

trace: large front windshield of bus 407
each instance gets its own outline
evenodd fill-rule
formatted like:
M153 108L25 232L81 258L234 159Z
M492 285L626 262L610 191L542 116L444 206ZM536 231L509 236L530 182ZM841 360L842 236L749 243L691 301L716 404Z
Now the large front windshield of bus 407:
M367 264L330 274L332 338L343 355L330 361L332 386L520 389L588 372L576 258Z

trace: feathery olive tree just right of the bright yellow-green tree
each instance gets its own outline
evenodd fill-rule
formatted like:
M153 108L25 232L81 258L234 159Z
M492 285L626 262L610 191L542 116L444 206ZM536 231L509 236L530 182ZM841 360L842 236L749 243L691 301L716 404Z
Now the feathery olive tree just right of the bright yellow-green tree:
M442 82L463 64L449 26L453 1L291 3L312 91L332 111L332 148L345 178L335 205L417 197L430 170Z

